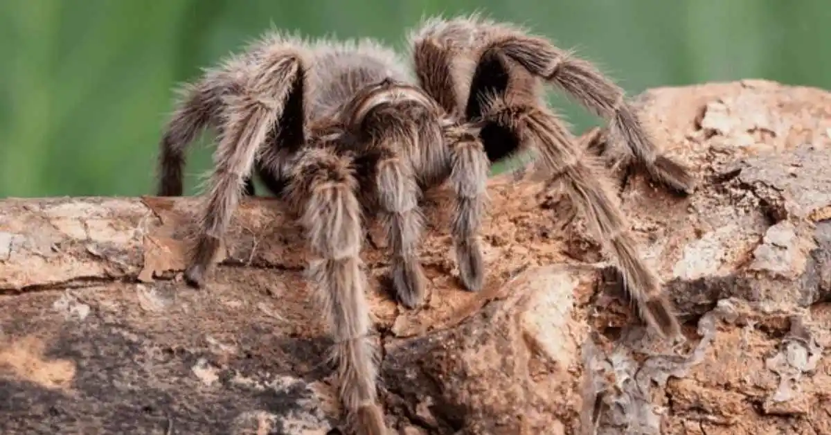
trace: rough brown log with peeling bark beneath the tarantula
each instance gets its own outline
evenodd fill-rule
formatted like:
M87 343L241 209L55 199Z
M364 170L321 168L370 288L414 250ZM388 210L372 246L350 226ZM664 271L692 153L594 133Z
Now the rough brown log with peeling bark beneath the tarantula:
M430 200L425 308L365 260L398 433L831 433L831 94L745 81L648 91L687 199L621 174L687 342L644 335L568 200L490 185L486 288L457 282ZM0 432L337 433L329 341L297 226L243 201L204 290L181 279L193 198L0 201Z

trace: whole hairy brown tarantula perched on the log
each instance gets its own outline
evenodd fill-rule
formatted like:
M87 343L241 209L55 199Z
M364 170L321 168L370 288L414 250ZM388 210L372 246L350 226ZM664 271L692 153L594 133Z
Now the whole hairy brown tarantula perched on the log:
M415 307L425 287L416 252L419 200L449 181L460 276L467 289L479 290L477 236L489 166L533 148L617 260L647 324L676 334L671 304L637 255L601 164L577 149L542 100L544 83L562 87L612 120L612 145L629 164L673 190L691 190L691 176L656 150L622 90L548 40L476 16L432 18L411 33L410 44L407 67L371 39L308 41L269 32L184 87L160 141L158 195L182 195L185 148L199 131L210 126L219 137L186 281L204 285L239 196L254 193L255 171L304 228L313 256L307 276L326 307L347 419L359 433L383 433L366 337L363 220L385 222L396 295Z

